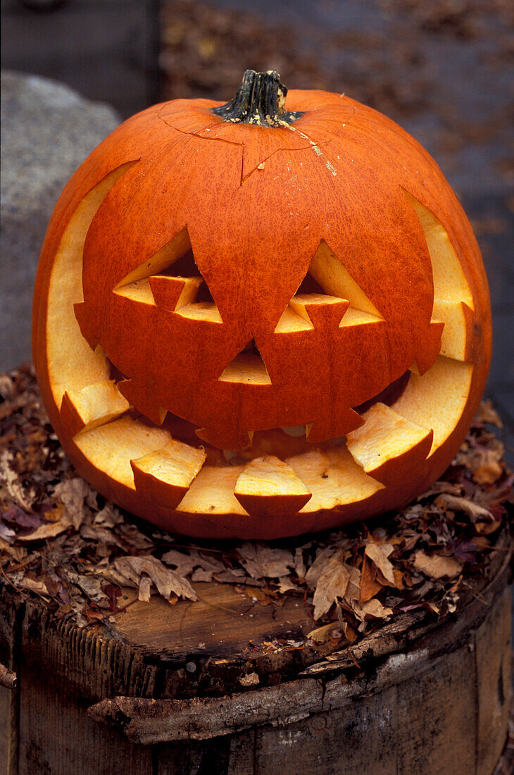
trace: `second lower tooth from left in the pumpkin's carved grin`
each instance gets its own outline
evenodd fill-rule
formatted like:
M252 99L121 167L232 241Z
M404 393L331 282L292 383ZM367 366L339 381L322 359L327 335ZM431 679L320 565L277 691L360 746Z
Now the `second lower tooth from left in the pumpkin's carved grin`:
M176 508L206 457L203 449L172 439L162 449L130 461L135 490L159 506Z

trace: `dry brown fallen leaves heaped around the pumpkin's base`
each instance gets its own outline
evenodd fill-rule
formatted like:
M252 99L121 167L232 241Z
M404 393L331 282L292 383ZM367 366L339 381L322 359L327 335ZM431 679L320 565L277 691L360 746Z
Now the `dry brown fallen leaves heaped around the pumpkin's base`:
M256 605L299 595L313 618L311 642L351 642L416 608L455 611L495 553L509 550L498 539L514 477L487 403L444 477L403 511L308 539L207 543L139 521L78 477L31 367L0 375L0 395L3 580L79 627L101 622L116 636L111 622L127 587L140 601L160 595L176 605L197 600L195 584L216 582Z

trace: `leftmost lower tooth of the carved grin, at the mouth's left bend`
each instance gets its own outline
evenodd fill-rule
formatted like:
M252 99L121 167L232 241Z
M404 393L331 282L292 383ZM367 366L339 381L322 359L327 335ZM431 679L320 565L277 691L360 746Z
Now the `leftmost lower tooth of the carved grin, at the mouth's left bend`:
M118 391L114 381L94 382L81 390L66 391L60 405L60 417L77 436L120 417L128 409L127 399Z

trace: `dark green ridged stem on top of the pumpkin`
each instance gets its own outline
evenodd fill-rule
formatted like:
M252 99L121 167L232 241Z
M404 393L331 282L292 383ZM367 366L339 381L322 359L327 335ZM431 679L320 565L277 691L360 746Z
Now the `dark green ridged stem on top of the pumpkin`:
M280 83L276 71L256 73L247 70L235 96L224 105L212 108L212 112L233 123L284 126L303 115L286 110L286 94L287 89Z

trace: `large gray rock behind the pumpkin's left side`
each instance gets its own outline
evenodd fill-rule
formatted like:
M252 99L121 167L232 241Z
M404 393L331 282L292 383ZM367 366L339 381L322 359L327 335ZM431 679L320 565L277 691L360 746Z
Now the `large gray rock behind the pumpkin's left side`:
M29 360L34 277L60 192L119 119L63 84L2 72L0 370Z

